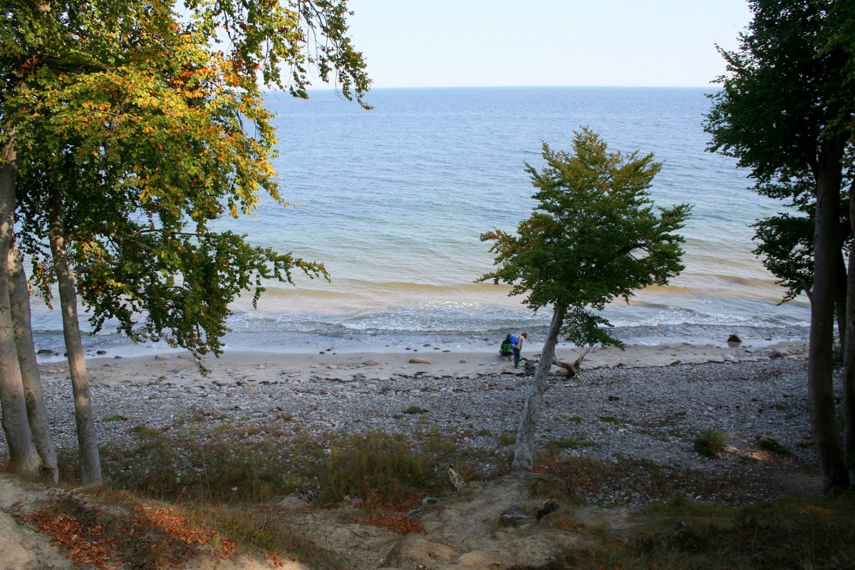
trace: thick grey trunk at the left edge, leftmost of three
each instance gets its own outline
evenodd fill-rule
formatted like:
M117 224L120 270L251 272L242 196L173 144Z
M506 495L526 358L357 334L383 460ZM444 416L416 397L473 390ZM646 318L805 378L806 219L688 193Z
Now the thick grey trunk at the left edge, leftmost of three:
M15 178L18 172L14 141L15 137L10 135L0 150L0 405L3 406L3 432L9 444L9 467L27 479L36 479L41 461L32 444L32 432L27 421L6 267L15 226Z

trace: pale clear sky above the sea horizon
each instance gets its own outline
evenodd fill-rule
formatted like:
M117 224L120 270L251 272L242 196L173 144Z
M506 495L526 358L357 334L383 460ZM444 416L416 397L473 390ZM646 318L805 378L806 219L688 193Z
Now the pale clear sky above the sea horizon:
M748 0L349 0L373 87L708 86Z

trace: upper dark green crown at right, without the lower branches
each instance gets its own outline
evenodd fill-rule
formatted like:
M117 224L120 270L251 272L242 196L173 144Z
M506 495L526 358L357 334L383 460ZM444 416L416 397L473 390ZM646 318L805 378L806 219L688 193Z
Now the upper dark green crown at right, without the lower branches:
M815 166L817 141L852 128L851 108L846 109L852 100L846 96L855 85L847 83L846 54L832 48L817 56L844 15L833 5L752 3L752 23L740 36L740 49L720 50L728 74L717 79L722 91L711 95L705 124L713 136L711 150L739 158L758 185L787 197L812 187L804 178ZM787 97L781 97L783 90Z

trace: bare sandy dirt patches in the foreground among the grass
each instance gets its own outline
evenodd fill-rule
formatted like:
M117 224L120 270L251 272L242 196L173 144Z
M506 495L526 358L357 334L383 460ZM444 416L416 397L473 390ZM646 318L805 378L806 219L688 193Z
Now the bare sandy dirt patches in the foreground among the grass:
M793 479L795 477L796 479ZM816 491L818 481L804 473L780 473L790 486ZM327 551L339 567L353 570L503 570L539 567L571 547L590 543L604 532L612 539L627 536L632 527L630 508L598 508L560 502L543 515L548 496L540 490L546 480L537 475L510 474L465 485L456 495L425 502L416 514L423 532L399 534L365 520L365 511L349 503L336 508L310 508L300 497L288 497L271 509L289 526ZM764 481L775 485L774 480ZM0 474L0 567L3 570L80 570L101 568L71 560L74 546L57 546L46 532L38 532L27 515L39 505L70 494L84 504L102 502L103 495L82 490L60 491ZM534 496L534 498L533 498ZM112 505L116 508L116 505ZM503 516L505 515L505 516ZM515 516L516 515L516 516ZM133 513L128 513L133 516ZM510 520L514 520L510 523ZM504 522L503 522L504 521ZM66 537L68 538L68 537ZM80 556L78 557L80 560ZM307 562L263 560L247 555L223 557L213 549L197 549L180 562L187 570L314 570ZM127 566L114 566L121 570ZM169 567L164 563L161 567Z

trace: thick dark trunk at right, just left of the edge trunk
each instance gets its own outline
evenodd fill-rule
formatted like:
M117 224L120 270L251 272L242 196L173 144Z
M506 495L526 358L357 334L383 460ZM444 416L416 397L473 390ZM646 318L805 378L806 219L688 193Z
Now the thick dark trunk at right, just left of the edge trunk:
M826 141L823 146L834 146ZM842 146L840 146L842 149ZM814 228L814 274L811 295L811 336L808 399L811 431L823 473L823 488L848 486L834 409L834 303L836 297L837 228L840 211L842 154L821 153L817 166L817 213Z

